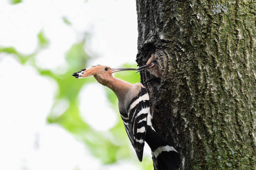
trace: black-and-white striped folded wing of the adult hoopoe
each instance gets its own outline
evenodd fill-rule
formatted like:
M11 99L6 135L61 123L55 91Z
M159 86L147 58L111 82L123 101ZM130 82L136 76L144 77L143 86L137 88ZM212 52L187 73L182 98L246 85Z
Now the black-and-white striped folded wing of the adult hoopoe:
M127 113L129 118L128 124L131 127L125 127L125 130L130 134L130 137L132 138L130 140L131 142L133 140L133 147L136 151L138 159L141 161L143 157L147 119L149 118L149 121L151 122L149 96L144 87L141 87L139 94L131 100Z

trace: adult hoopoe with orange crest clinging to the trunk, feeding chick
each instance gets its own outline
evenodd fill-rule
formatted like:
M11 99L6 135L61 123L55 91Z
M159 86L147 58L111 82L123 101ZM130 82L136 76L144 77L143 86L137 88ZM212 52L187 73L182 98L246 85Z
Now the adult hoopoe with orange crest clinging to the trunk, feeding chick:
M82 69L72 76L75 78L94 76L98 83L114 91L118 98L119 112L125 131L139 161L142 161L144 142L147 142L156 157L159 170L175 170L179 166L179 154L152 127L146 88L141 83L131 84L112 75L114 72L125 70L135 69L112 69L108 66L97 65Z

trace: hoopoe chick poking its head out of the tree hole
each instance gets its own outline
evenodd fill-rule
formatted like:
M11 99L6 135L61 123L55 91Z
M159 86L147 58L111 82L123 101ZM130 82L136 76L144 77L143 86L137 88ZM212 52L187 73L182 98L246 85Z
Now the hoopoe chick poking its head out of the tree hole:
M138 72L143 71L143 70L149 71L154 76L153 78L149 79L148 81L160 78L160 73L159 73L159 69L158 69L158 62L156 60L156 57L155 57L154 53L151 54L151 57L148 59L146 65L139 67L135 71L137 71L136 73L138 73ZM144 82L144 84L147 83L148 81Z

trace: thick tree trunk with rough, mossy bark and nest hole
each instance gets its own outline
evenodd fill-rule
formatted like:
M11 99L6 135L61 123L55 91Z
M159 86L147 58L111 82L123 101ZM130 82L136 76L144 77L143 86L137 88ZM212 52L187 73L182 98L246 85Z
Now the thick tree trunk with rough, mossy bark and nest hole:
M181 170L256 169L256 1L136 0L139 66L154 128ZM141 82L150 78L141 73ZM157 169L156 161L154 161Z

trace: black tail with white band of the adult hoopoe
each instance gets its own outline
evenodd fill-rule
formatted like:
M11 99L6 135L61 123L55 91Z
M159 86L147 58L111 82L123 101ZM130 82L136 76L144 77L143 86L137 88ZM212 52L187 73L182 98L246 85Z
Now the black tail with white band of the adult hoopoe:
M179 153L161 138L153 127L146 130L146 142L158 163L158 170L176 170L179 167Z

